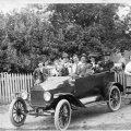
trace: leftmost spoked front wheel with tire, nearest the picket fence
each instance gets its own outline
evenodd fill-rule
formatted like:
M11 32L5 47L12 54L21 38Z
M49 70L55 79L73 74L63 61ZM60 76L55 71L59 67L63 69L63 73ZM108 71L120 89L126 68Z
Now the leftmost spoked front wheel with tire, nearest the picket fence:
M10 105L10 120L15 127L20 127L26 119L26 104L22 98L13 99Z

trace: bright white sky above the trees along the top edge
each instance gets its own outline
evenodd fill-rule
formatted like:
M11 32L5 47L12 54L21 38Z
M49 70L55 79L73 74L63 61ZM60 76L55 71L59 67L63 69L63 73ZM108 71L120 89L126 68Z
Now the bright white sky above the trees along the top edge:
M131 0L0 0L0 10L7 13L13 9L21 10L27 3L127 3L131 5ZM129 8L120 9L119 15L126 15Z

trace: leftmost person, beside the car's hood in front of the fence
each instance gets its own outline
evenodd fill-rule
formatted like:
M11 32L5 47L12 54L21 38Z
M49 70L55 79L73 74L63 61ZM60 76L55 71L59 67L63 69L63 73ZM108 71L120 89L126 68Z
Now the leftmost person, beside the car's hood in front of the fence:
M38 84L46 81L48 76L48 70L44 67L43 60L38 61L38 68L33 72L33 83Z

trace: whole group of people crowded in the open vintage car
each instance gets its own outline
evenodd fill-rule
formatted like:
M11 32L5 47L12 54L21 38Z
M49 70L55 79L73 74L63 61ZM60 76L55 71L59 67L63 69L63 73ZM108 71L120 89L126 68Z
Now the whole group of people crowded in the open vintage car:
M106 52L100 61L96 60L97 55L82 56L73 55L72 59L69 59L68 53L63 53L62 59L55 61L55 68L51 75L53 76L67 76L72 78L87 76L94 73L111 70L114 62L110 60L110 52ZM39 61L38 68L33 73L33 80L36 83L44 82L48 78L49 72L44 67L43 61Z

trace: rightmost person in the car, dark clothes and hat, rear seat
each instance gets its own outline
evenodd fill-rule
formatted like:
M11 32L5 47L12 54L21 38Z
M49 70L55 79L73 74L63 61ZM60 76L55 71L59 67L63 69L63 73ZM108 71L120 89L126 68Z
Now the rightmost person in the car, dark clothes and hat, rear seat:
M110 60L110 52L104 53L104 60L98 62L99 71L110 71L114 68L114 62Z

